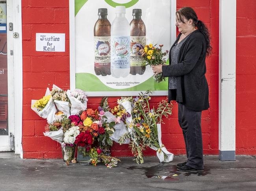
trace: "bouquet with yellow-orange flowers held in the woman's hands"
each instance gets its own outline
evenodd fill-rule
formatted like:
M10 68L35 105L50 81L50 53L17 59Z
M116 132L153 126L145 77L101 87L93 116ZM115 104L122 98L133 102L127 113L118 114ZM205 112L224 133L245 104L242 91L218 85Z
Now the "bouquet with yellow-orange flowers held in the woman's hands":
M146 65L160 65L166 63L164 56L168 54L168 50L163 52L162 47L162 44L159 47L156 47L156 45L153 46L152 44L145 45L145 47L137 45L137 51L143 58L143 61L146 62ZM162 73L154 75L153 78L155 82L165 81Z

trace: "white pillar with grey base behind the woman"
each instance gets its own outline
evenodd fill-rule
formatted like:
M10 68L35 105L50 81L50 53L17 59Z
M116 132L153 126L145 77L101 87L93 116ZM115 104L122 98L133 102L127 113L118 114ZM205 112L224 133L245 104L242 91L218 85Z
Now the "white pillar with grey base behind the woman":
M236 160L236 0L219 0L219 159Z

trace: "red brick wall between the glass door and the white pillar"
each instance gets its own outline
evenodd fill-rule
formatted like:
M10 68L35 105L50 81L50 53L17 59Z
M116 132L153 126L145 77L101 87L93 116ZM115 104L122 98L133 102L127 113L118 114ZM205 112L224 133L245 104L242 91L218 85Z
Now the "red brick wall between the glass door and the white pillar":
M213 55L207 59L207 80L210 87L210 109L202 113L204 154L218 153L218 78L219 78L219 1L218 0L177 0L177 9L191 6L198 18L206 23L212 36ZM66 52L46 53L35 51L35 33L65 33ZM69 1L68 0L22 0L23 39L23 122L22 146L24 158L60 158L60 146L43 135L46 120L42 120L31 109L32 99L44 95L46 87L56 84L69 89ZM166 96L155 96L156 104ZM114 106L117 97L109 98ZM90 97L88 107L96 108L99 97ZM177 105L173 115L165 119L162 126L163 144L169 151L185 154L183 135L178 126ZM115 144L115 156L131 156L128 146ZM148 150L146 155L155 155Z

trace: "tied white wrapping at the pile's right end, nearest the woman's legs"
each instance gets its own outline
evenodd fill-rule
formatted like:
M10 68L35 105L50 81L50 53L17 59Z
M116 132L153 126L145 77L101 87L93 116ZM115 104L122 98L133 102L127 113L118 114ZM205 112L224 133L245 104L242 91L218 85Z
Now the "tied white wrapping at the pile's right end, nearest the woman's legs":
M156 147L150 147L150 148L156 151L156 155L158 156L160 162L170 162L173 160L173 153L170 153L169 151L167 151L167 149L162 143L161 124L157 124L157 130L158 130L158 142L159 142L160 148L156 148ZM164 158L163 153L167 155L167 158Z

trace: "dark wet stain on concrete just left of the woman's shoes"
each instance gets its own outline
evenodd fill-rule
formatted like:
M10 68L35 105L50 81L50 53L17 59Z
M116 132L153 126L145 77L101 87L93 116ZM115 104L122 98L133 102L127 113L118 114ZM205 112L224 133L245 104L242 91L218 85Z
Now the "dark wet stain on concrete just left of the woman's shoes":
M156 166L151 167L138 167L138 166L131 166L127 168L128 170L134 170L134 169L142 169L145 171L145 175L148 178L158 178L162 180L169 180L169 181L178 181L177 176L173 175L180 175L179 172L177 172L177 167L175 165L164 165L163 163L158 164Z

